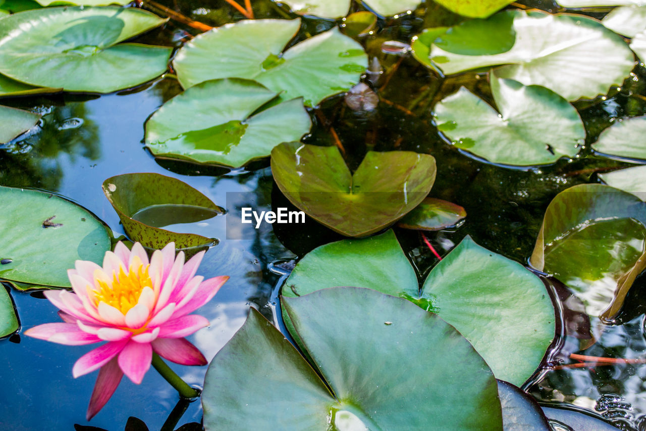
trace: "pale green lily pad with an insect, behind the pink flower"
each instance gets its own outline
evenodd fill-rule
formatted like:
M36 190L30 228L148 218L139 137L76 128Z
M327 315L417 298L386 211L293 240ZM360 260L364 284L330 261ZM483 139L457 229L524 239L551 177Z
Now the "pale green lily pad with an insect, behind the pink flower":
M0 186L0 278L70 287L76 260L103 261L110 235L101 221L52 193Z

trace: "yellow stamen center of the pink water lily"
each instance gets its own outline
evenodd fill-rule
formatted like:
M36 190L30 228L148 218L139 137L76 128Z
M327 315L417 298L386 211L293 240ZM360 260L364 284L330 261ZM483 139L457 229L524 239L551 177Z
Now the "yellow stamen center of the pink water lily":
M149 266L144 267L141 261L135 258L128 273L123 271L123 267L120 267L118 274L112 273L112 283L96 280L95 304L105 302L125 315L129 309L137 305L143 288L152 288L151 276L148 274Z

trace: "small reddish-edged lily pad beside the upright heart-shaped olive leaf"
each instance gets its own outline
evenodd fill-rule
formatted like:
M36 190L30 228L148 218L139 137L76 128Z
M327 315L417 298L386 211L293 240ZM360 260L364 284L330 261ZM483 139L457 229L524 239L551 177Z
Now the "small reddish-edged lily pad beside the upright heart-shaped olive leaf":
M406 214L397 226L404 229L441 230L457 225L464 217L466 211L463 207L427 197L417 208Z

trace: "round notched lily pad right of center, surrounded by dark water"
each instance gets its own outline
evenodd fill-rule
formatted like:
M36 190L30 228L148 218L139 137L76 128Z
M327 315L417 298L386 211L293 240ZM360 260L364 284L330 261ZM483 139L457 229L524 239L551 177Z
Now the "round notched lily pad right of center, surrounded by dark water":
M437 129L453 145L514 166L553 163L579 152L585 128L567 100L545 87L525 87L494 74L490 80L500 113L464 87L435 105Z

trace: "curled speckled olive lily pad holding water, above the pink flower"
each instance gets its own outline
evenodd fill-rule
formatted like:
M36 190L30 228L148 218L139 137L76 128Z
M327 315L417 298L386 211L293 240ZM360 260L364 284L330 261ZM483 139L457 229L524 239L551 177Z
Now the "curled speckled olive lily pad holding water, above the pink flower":
M212 238L164 229L224 213L211 199L183 181L158 173L125 173L103 181L103 193L132 241L151 249L170 242L177 249L207 246Z

